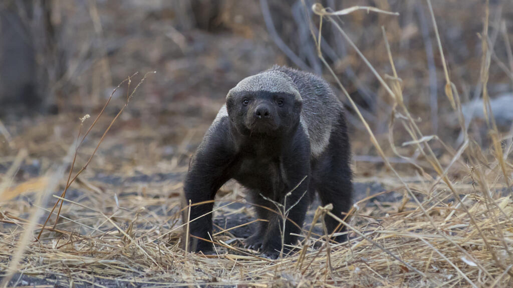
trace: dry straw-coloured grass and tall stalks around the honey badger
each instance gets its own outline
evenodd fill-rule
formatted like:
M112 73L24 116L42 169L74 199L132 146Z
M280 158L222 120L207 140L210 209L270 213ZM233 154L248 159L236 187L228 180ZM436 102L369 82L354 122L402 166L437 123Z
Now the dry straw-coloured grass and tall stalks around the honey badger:
M428 5L437 31L429 1ZM88 180L80 177L81 172L73 178L76 197L67 199L65 193L61 197L53 195L55 205L59 200L64 203L62 211L58 210L61 211L60 220L55 220L53 227L42 230L42 226L37 224L39 214L45 213L49 218L57 216L57 211L45 208L44 198L56 191L58 185L68 190L73 182L68 179L66 183L61 179L66 163L71 162L65 160L60 167L49 169L51 172L46 181L37 182L35 188L32 187L40 191L36 193L38 200L35 203L29 205L23 196L2 203L0 221L4 224L0 226L0 270L24 275L53 275L52 281L62 285L94 284L103 287L114 285L114 281L118 281L117 285L133 283L155 287L198 283L261 287L513 285L513 167L511 145L504 146L502 142L507 140L511 143L511 140L501 138L489 109L485 115L492 143L490 148L480 147L468 135L458 88L451 82L438 32L436 40L444 67L445 93L452 109L459 115L463 141L459 147L453 148L436 135L424 135L416 115L410 113L403 101L401 75L394 68L393 51L386 41L385 29L386 45L376 49L387 55L393 74L382 77L338 25L338 19L333 18L358 9L353 7L327 13L319 5L313 7L315 14L337 27L390 97L393 111L388 144L396 154L394 156L408 162L409 174L399 173L396 165L387 160L390 155L385 155L382 144L339 82L387 168L387 176L380 181L390 190L378 194L404 193L402 202L376 202L378 194L358 201L349 223L339 219L349 228L351 237L348 243L328 243L324 236L311 234L305 229L306 241L298 245L301 253L271 261L253 256L251 251L232 241L230 231L224 231L214 236L219 244L216 245L218 255L188 254L182 250L181 236L186 223L180 219L180 177L123 185ZM381 12L379 9L372 11ZM320 23L318 28L322 30L325 22L321 20ZM486 89L493 55L489 49L487 23L488 10L481 33L483 58L480 81L484 107L489 107ZM320 53L320 33L313 31L319 56L331 71ZM400 154L399 151L404 150L394 145L396 125L407 131L410 137L403 147L411 148L420 157ZM100 139L101 142L103 136ZM181 147L187 146L188 141L190 138L185 137ZM443 147L442 154L449 157L441 159L437 156L432 149L433 143ZM111 151L109 144L105 143L107 151ZM66 150L66 159L71 159L76 151L75 146L71 147ZM89 147L84 152L87 156L82 155L82 158L92 157L96 149L97 146ZM0 195L26 193L26 187L8 188L23 157L26 157L24 152L12 161L12 169L0 182ZM180 163L184 155L175 157L171 161L172 170L183 174L186 166ZM155 167L148 172L151 174L171 167ZM71 168L70 176L72 171ZM123 175L123 171L118 175ZM463 176L456 178L451 175ZM230 195L221 198L233 199ZM233 212L229 205L221 205L219 210ZM319 222L324 214L337 217L328 209L318 208L314 221ZM37 233L41 237L33 241ZM8 286L8 279L5 277L4 286ZM16 279L12 280L13 283Z

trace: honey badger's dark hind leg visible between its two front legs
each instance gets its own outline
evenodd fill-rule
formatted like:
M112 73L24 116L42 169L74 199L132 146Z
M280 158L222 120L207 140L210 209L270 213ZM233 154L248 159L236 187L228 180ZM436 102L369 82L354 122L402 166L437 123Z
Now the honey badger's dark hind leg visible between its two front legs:
M257 230L244 240L244 247L252 250L260 250L269 223L269 213L272 213L269 209L272 210L272 207L270 207L270 202L260 195L260 191L251 190L248 191L248 195L250 195L250 200L257 214L257 219L260 221L257 223Z

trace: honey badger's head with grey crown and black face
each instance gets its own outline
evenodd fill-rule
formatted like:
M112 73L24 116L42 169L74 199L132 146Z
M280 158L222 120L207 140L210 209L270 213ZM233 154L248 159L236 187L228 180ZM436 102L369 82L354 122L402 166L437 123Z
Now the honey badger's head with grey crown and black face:
M244 78L226 96L228 117L243 135L285 135L300 121L302 98L280 71Z

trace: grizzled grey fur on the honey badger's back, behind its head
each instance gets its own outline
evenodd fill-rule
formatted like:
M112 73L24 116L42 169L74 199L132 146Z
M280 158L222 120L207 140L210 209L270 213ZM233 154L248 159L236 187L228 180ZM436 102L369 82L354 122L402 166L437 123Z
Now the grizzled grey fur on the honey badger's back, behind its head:
M280 66L267 71L280 71L297 86L303 98L301 125L308 130L312 155L318 157L326 149L332 129L343 118L342 102L318 75Z

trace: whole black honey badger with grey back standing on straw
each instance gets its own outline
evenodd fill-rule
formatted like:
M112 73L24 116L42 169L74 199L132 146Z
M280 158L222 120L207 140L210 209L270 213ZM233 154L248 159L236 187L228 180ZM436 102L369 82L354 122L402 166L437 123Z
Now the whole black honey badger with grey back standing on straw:
M323 205L342 217L351 206L350 147L341 101L321 77L274 66L244 78L226 96L195 155L184 183L185 200L213 200L229 179L248 189L260 221L246 246L275 258L282 248L283 218L289 210L284 244L294 244L317 191ZM289 193L290 192L290 193ZM266 199L267 198L267 199ZM291 208L292 207L292 208ZM190 234L212 235L213 203L193 205ZM266 209L268 208L268 209ZM283 210L283 209L282 209ZM326 216L328 232L339 222ZM209 252L212 244L190 237L191 251ZM334 240L345 241L345 235Z

